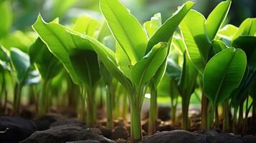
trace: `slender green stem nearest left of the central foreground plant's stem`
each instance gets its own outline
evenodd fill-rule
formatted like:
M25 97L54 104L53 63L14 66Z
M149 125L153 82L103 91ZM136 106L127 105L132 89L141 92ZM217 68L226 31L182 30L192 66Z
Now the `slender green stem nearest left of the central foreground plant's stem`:
M113 129L114 124L113 124L113 94L111 92L110 85L106 86L106 93L107 93L107 116L108 116L108 122L107 122L107 127L109 129Z

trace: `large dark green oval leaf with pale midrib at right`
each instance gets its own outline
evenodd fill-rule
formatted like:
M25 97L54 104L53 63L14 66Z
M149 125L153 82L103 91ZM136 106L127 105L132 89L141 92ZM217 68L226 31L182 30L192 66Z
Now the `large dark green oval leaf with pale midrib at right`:
M214 107L240 85L246 66L245 52L232 47L210 59L204 70L204 93Z

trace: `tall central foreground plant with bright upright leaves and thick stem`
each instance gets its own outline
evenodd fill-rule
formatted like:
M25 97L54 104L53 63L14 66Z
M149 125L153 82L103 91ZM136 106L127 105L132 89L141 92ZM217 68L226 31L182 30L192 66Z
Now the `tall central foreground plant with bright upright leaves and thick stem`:
M100 9L107 20L108 26L117 41L115 55L106 48L100 48L100 44L94 42L94 49L110 74L118 79L128 90L131 101L131 137L141 139L140 116L143 96L147 84L150 81L156 87L163 77L166 69L167 56L171 45L171 38L176 27L194 5L189 1L179 8L170 19L168 19L157 30L154 26L146 29L153 36L148 40L147 34L141 25L125 7L117 0L101 0ZM158 22L160 23L159 19ZM169 32L166 32L169 31ZM110 66L115 66L110 68ZM120 69L119 69L120 68Z

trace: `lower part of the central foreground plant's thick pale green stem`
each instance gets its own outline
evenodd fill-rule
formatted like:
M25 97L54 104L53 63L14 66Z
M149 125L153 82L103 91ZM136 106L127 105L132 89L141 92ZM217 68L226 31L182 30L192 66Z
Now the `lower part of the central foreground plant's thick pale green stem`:
M142 139L141 109L137 109L133 103L131 103L131 139L133 142L140 142Z

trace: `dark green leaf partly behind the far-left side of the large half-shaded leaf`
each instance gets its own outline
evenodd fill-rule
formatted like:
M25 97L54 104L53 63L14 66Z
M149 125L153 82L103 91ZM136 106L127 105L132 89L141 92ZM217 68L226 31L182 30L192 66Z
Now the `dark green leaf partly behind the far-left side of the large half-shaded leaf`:
M43 79L52 79L60 73L62 64L47 48L41 39L37 39L29 48L30 61L35 64Z

